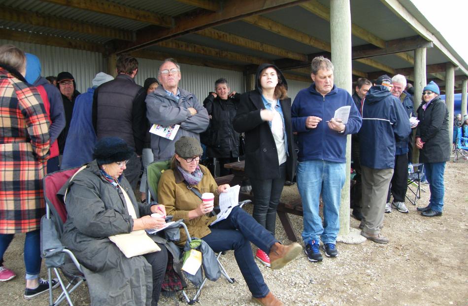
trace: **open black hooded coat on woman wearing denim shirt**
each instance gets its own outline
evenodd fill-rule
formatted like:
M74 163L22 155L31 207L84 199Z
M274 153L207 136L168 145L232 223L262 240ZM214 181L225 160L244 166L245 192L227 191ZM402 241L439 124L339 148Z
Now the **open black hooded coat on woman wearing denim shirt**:
M278 152L271 129L267 121L263 121L260 111L265 109L262 100L262 88L259 76L262 70L273 67L278 72L278 78L287 87L286 78L274 65L262 64L255 76L255 90L243 93L233 121L234 130L245 132L245 174L255 179L273 179L280 177ZM293 181L296 174L297 151L291 127L291 98L280 100L283 110L284 124L288 141L288 158L286 160L286 180Z

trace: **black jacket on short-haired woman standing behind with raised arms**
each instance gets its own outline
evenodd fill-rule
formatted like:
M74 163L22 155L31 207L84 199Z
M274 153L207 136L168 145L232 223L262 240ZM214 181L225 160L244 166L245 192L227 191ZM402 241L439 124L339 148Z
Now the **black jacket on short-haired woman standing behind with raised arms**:
M201 142L206 145L208 157L233 157L239 156L239 133L234 131L233 120L239 104L240 94L233 98L221 100L209 94L203 101L203 106L211 115L210 126L201 135Z

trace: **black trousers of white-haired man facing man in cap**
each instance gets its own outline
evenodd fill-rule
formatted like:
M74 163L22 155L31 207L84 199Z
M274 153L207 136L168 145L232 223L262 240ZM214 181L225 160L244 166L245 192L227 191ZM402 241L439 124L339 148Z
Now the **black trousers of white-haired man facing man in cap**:
M395 155L395 168L392 181L388 188L387 203L390 202L390 193L394 202L404 202L408 189L408 154Z

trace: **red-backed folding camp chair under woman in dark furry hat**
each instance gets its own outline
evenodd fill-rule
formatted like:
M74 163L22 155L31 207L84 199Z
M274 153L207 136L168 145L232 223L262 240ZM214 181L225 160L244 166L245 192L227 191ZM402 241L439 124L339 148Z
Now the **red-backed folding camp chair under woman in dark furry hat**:
M80 168L74 168L56 171L47 174L43 180L44 197L46 200L46 215L41 219L41 256L45 259L45 263L47 265L49 284L52 283L51 279L53 270L59 279L60 286L62 287L62 293L55 302L53 300L52 288L50 288L49 306L59 305L65 299L67 299L70 306L73 306L70 294L75 291L81 283L86 281L80 263L73 253L60 241L65 221L67 221L67 209L63 199L57 197L57 193L62 186L79 169ZM189 231L187 226L183 223L183 220L167 227L167 229L175 227L183 228L187 237L189 237ZM68 256L68 260L66 259L66 255ZM59 273L59 269L66 276L68 283L64 281L63 277Z

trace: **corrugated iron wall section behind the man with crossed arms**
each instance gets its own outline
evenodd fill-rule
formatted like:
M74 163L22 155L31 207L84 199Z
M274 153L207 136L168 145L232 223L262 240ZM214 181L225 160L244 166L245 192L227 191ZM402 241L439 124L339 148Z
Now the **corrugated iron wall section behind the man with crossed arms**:
M135 82L141 86L146 78L158 77L158 69L162 61L138 58L138 74ZM180 64L182 78L179 87L194 93L202 103L210 91L214 91L214 82L220 77L228 80L232 91L244 92L242 72L225 69L201 67Z

